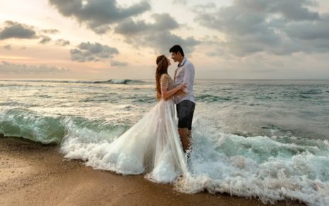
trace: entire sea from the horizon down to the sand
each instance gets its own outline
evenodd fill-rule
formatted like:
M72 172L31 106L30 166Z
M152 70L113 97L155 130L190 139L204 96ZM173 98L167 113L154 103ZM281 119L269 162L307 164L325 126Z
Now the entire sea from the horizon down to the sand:
M194 95L189 193L329 205L329 80L195 80ZM0 134L88 161L155 104L154 80L0 80Z

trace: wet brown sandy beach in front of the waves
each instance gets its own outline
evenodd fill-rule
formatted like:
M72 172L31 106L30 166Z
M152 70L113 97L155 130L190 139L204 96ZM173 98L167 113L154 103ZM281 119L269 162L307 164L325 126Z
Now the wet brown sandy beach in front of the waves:
M0 134L0 205L264 205L228 194L184 194L143 175L94 170L57 145ZM267 204L272 205L272 204ZM275 205L304 205L280 201Z

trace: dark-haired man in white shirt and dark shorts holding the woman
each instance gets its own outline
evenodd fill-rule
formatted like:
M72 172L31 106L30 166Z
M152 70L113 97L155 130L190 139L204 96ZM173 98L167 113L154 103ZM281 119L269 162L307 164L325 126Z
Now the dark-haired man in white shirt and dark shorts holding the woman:
M194 65L184 57L184 51L180 45L174 45L170 48L169 53L172 55L172 60L179 63L174 74L174 84L186 84L186 93L177 94L174 97L178 117L178 133L186 153L191 146L192 119L195 108L193 94Z

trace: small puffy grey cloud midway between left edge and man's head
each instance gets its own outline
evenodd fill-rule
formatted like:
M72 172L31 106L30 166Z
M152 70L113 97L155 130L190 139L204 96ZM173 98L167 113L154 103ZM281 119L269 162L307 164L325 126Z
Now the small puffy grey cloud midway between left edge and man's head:
M81 63L99 61L101 59L113 58L117 55L118 49L102 45L100 43L80 43L78 48L70 50L71 60Z

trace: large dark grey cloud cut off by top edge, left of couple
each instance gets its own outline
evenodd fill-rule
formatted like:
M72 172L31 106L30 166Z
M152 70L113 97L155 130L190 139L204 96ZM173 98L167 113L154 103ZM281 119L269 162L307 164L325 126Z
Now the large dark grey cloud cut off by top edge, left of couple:
M63 16L73 17L79 23L85 23L95 33L106 33L113 23L138 16L151 8L147 1L140 1L128 7L118 6L116 0L49 0L49 2Z

